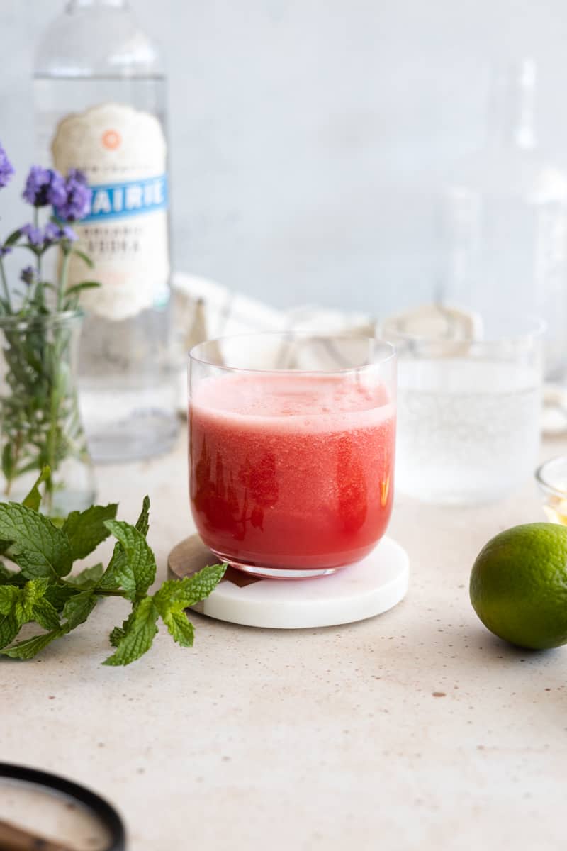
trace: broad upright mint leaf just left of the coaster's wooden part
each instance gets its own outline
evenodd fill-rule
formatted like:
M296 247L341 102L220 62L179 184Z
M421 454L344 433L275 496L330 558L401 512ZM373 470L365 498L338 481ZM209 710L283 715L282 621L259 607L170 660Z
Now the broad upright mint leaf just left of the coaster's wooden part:
M122 545L124 556L117 559L112 568L114 578L126 591L128 600L143 597L156 579L156 557L150 550L144 535L130 523L106 520L105 525ZM112 562L114 561L113 556ZM105 577L101 580L101 585L104 579Z

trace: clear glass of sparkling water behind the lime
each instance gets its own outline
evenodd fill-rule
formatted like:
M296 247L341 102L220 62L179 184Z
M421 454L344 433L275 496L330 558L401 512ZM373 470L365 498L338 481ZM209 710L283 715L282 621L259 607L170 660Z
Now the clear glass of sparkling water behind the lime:
M482 339L393 336L397 487L424 502L498 500L533 475L540 443L539 320L485 323Z

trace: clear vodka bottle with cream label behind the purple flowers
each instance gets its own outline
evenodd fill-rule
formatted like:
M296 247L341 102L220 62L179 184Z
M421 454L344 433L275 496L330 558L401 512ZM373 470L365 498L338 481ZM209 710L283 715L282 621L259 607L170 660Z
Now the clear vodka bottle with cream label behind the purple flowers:
M102 288L83 300L83 421L95 460L170 448L179 423L169 349L166 77L126 0L71 0L34 72L37 158L94 191L77 226ZM84 279L75 259L70 277ZM88 291L86 291L85 295ZM96 293L96 295L94 295Z

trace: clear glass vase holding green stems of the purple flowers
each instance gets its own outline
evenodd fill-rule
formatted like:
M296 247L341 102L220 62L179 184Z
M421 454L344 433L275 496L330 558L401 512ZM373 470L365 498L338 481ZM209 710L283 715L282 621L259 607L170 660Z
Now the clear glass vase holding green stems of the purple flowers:
M52 517L95 496L77 398L81 326L81 311L0 317L0 499L23 500L48 465L42 511Z

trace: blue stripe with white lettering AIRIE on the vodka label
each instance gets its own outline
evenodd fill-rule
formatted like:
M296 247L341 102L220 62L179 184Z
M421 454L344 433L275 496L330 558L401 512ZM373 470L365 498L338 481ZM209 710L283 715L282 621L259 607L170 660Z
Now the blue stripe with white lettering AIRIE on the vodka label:
M91 186L91 212L81 224L89 221L129 219L133 215L167 209L167 174L128 183Z

